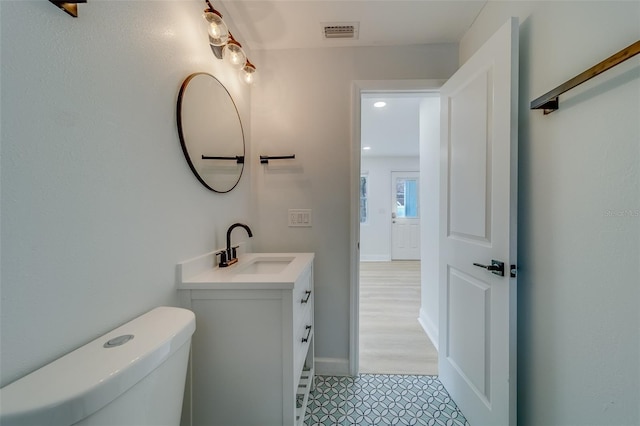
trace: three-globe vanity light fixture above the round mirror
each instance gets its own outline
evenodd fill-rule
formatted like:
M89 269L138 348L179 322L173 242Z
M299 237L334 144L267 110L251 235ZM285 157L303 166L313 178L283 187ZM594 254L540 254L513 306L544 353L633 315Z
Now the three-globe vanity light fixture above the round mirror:
M222 13L204 0L207 8L202 15L209 27L209 44L216 58L224 60L230 67L239 70L238 77L245 84L252 85L256 81L256 66L249 61L242 45L233 38L231 31L222 20Z

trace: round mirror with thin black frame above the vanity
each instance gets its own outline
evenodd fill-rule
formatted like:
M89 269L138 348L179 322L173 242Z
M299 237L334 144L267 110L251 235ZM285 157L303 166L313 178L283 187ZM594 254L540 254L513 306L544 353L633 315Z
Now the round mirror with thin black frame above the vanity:
M215 192L236 187L244 169L244 132L227 89L211 74L191 74L178 95L178 134L196 178Z

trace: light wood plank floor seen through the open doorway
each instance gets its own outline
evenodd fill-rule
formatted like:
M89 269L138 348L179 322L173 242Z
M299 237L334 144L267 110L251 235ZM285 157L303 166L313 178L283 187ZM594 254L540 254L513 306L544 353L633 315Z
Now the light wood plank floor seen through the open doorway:
M360 262L360 372L438 374L418 322L420 262Z

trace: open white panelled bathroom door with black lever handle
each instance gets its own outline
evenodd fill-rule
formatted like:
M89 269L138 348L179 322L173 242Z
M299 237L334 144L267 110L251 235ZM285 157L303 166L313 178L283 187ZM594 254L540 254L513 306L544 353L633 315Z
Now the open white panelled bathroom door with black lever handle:
M511 18L441 90L438 369L473 426L516 421L517 88Z

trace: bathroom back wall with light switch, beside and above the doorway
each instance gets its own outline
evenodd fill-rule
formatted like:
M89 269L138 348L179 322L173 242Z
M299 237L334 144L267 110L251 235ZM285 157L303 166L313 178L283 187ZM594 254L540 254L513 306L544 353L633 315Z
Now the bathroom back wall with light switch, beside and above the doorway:
M316 253L320 373L348 372L352 82L447 78L457 46L259 51L252 93L256 153L296 160L255 171L258 250ZM360 155L359 150L354 155ZM354 194L357 196L357 193ZM312 228L288 228L289 208L311 208Z

